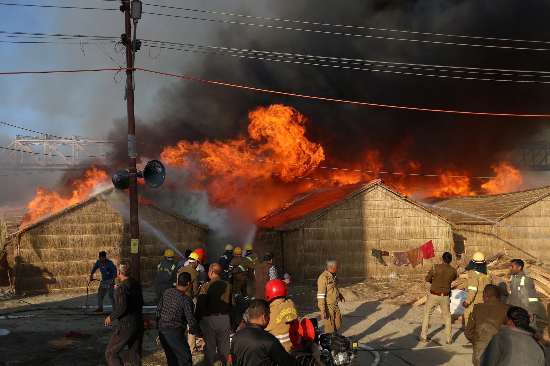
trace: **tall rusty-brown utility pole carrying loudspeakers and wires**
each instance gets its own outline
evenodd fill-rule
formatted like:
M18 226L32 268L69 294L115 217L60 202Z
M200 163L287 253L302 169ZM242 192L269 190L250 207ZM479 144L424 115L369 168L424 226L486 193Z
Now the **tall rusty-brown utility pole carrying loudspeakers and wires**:
M133 67L133 47L131 41L130 1L123 2L126 27L126 64ZM134 119L134 89L132 87L133 70L126 70L126 103L128 106L128 155L130 157L130 239L132 278L141 282L139 264L139 220L138 220L138 176L136 170L136 142Z

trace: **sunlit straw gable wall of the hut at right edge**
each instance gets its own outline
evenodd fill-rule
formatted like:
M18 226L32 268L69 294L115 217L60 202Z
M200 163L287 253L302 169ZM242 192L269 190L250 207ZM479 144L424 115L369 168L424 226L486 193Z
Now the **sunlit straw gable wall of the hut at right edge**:
M502 223L550 238L550 202L538 201L505 218ZM502 250L507 255L528 260L550 261L550 240L497 224L460 224L454 234L465 237L465 252L492 253Z

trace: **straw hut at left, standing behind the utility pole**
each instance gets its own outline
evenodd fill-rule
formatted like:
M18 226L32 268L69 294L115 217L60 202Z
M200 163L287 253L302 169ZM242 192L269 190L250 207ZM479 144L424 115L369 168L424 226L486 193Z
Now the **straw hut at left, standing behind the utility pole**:
M157 264L172 244L179 252L206 249L211 230L140 197L141 283L155 282ZM10 234L8 261L15 291L85 290L97 254L105 250L114 263L130 259L128 195L111 188L43 217ZM100 277L99 271L96 278ZM97 282L90 284L97 287Z

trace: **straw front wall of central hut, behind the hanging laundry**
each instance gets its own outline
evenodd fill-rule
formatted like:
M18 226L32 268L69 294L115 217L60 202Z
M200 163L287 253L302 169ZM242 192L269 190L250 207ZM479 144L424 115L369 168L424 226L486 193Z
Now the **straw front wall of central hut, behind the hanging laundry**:
M441 263L444 251L453 251L451 229L442 218L375 187L352 196L292 234L285 232L286 269L301 280L313 281L324 271L327 258L333 257L338 260L338 274L343 280L387 277L391 272L424 275L432 264ZM428 240L433 240L436 257L415 268L394 266L390 257L384 257L388 266L383 266L371 256L373 248L408 251Z

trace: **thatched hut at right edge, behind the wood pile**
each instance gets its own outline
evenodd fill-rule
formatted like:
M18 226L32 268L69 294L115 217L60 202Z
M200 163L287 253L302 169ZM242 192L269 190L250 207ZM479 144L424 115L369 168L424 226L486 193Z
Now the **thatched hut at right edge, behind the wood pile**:
M550 261L550 185L520 192L438 199L431 205L456 224L453 239L458 252L472 255L500 250L513 257Z

